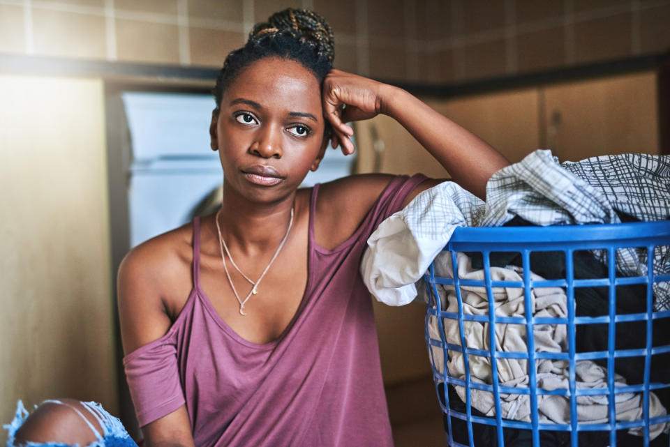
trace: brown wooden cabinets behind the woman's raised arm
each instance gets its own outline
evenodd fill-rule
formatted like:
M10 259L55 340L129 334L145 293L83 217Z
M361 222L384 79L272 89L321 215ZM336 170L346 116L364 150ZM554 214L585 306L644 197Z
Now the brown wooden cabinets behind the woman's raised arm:
M662 153L655 72L620 75L426 103L511 162L535 149L561 161L608 153ZM446 174L388 116L356 124L357 172Z

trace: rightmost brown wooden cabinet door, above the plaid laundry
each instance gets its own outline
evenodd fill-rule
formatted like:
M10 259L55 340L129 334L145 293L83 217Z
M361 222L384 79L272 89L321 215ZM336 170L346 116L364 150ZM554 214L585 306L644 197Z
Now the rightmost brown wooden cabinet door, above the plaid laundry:
M546 87L546 146L561 161L659 153L655 73Z

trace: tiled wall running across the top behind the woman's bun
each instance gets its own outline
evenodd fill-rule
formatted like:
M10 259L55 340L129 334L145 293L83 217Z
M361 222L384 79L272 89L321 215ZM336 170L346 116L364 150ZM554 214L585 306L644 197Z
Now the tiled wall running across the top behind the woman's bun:
M0 0L0 53L220 66L286 6L331 22L338 68L398 81L670 50L670 0Z

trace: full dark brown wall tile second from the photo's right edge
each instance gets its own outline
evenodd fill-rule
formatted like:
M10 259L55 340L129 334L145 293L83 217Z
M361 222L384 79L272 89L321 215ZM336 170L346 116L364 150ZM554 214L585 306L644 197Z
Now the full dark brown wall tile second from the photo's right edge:
M622 59L631 54L630 13L574 24L576 63Z

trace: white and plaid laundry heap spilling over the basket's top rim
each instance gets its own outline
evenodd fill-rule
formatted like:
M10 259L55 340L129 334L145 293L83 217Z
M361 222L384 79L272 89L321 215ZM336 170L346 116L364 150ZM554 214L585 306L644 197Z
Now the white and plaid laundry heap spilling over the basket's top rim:
M670 219L670 156L623 154L565 162L537 150L500 169L486 202L445 182L423 191L368 238L361 273L371 294L389 305L416 296L414 282L456 227L496 227L519 216L534 225L620 223L616 210L643 221ZM596 251L606 262L606 252ZM670 274L670 247L655 247L654 273ZM616 250L619 275L646 275L646 251ZM654 310L670 310L670 283L653 285Z

